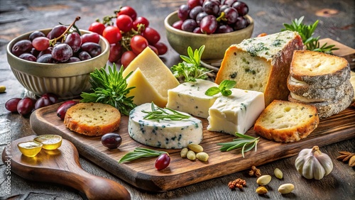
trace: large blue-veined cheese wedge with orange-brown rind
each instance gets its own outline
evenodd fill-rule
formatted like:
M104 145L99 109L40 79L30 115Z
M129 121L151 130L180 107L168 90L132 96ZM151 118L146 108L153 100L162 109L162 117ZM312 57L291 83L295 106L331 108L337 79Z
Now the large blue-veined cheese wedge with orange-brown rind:
M294 50L302 50L297 32L283 31L243 40L225 52L216 83L236 81L236 88L261 91L266 106L274 99L288 99L287 78Z

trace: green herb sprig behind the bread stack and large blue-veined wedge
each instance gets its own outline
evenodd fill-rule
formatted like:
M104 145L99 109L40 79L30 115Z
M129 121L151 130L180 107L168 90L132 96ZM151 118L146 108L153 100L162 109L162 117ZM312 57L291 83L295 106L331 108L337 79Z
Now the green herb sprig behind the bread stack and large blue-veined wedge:
M327 43L324 43L324 45L320 46L320 36L318 36L317 38L312 37L312 35L315 33L315 29L317 28L319 21L317 20L311 25L305 25L302 23L304 18L304 16L301 16L299 19L295 18L295 20L292 21L291 24L283 23L283 26L285 26L285 28L281 29L281 31L297 31L298 34L300 34L302 42L306 46L307 50L325 52L328 54L332 54L333 50L339 50L339 48L334 48L335 45L327 45Z

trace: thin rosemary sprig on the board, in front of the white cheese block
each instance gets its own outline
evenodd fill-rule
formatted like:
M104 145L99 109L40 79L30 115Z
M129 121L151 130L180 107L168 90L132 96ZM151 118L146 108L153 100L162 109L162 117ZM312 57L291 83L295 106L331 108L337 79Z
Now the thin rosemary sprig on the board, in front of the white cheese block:
M222 148L219 150L221 151L230 151L230 150L235 150L235 149L240 149L241 148L241 155L244 157L244 152L248 152L249 150L252 150L255 147L255 151L258 145L259 137L254 138L249 135L243 135L240 133L235 133L236 138L232 142L229 143L218 143L217 145L222 145Z

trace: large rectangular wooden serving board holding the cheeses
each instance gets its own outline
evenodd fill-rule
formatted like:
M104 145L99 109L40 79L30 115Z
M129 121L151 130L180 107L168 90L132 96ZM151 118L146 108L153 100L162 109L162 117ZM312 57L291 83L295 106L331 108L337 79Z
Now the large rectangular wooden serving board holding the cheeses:
M239 150L230 152L219 151L217 143L229 142L235 138L233 135L217 133L206 130L208 121L202 119L204 130L202 147L209 155L207 162L200 160L190 161L180 157L180 150L165 150L169 152L171 162L165 170L155 170L155 158L142 158L132 162L119 164L117 161L127 152L137 147L152 148L129 137L127 123L128 117L121 118L121 125L116 133L123 139L121 146L115 150L105 148L100 137L80 135L67 129L63 121L56 116L60 104L47 106L36 110L31 115L32 129L38 135L58 134L70 140L80 154L96 163L117 177L124 179L135 187L146 191L166 191L184 187L207 179L221 177L226 174L250 169L251 166L263 165L274 160L296 155L303 148L312 148L314 145L324 146L337 143L349 138L355 138L355 108L349 107L341 113L320 121L319 126L305 139L295 143L276 143L260 138L257 151L251 150L242 157ZM252 128L246 133L256 137Z

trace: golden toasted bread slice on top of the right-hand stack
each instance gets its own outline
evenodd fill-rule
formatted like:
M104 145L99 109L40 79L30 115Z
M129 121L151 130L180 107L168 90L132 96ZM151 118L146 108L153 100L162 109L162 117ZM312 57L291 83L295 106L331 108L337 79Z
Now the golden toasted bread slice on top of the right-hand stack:
M290 76L313 87L336 87L350 78L350 65L343 57L310 50L295 50Z

